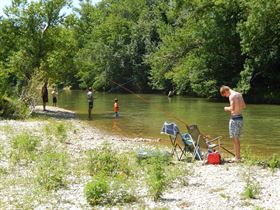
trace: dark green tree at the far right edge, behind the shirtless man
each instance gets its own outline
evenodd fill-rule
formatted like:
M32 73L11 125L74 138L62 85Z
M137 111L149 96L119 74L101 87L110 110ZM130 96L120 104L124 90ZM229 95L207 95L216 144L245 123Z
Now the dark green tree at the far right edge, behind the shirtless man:
M241 1L243 19L238 31L246 55L239 87L254 100L279 102L280 1Z

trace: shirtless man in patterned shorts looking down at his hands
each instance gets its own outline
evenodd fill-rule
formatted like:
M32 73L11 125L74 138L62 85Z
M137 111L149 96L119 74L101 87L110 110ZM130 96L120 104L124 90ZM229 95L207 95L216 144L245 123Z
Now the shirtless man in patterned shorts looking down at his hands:
M240 134L243 127L242 110L246 104L241 93L232 90L228 86L222 86L220 93L223 97L229 98L230 106L224 107L224 110L230 112L229 136L233 140L235 161L240 161Z

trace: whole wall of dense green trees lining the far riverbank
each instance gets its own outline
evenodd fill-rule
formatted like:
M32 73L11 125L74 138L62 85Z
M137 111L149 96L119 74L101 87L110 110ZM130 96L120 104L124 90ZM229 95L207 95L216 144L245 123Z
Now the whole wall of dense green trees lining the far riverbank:
M0 96L34 76L62 86L174 90L220 85L280 102L280 0L13 0L0 19ZM120 89L119 89L120 90ZM0 98L0 100L1 100ZM27 100L28 101L28 100Z

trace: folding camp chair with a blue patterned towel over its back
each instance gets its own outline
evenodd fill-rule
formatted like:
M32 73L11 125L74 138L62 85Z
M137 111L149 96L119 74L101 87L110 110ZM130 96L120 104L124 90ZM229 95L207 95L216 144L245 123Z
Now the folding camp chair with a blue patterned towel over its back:
M193 159L202 160L199 141L194 141L188 133L181 134L175 123L165 122L161 128L161 134L167 134L172 144L172 154L176 154L178 160L182 160L183 156L187 156L187 152L191 153Z

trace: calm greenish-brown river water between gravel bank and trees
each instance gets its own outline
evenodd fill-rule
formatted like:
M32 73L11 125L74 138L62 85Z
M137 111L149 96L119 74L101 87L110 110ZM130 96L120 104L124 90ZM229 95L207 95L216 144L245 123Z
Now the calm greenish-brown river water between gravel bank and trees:
M84 91L62 91L58 106L75 111L81 120L114 135L140 138L160 138L169 143L168 136L160 134L163 123L175 122L181 132L184 124L197 124L205 135L223 136L222 142L232 150L228 136L229 114L225 103L206 99L159 94L95 93L92 120L87 116L87 99ZM114 118L114 98L119 100L118 119ZM247 104L243 112L244 128L241 148L260 156L280 154L280 106Z

